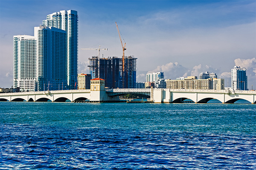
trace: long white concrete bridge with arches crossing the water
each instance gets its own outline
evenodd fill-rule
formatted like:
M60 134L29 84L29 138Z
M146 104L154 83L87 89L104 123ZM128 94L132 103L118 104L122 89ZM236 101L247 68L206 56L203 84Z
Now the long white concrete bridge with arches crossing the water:
M155 103L181 103L191 99L195 103L207 103L211 99L218 99L222 103L234 103L239 99L256 103L256 91L230 90L197 90L197 89L104 89L65 90L65 91L36 91L22 93L0 94L0 101L27 101L27 102L71 102L89 100L90 102L118 102L119 96L124 94L144 94L150 96Z

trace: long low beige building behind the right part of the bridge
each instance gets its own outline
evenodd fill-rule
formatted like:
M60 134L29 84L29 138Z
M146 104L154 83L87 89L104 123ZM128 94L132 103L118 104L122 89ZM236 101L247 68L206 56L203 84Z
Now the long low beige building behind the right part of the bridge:
M224 79L194 79L187 77L181 80L166 80L166 88L174 89L224 89Z

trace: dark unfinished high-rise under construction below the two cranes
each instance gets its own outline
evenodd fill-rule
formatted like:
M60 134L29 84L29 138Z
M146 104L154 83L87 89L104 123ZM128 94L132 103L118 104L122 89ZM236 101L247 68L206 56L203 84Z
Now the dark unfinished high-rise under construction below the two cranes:
M108 57L89 58L88 65L92 79L105 79L105 87L108 88L136 88L137 58L125 57L124 71L122 58Z

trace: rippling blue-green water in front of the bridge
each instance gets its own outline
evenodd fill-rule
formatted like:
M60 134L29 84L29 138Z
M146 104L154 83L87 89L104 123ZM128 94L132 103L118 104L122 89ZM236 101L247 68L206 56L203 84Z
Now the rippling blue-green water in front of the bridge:
M256 169L256 105L0 102L0 169Z

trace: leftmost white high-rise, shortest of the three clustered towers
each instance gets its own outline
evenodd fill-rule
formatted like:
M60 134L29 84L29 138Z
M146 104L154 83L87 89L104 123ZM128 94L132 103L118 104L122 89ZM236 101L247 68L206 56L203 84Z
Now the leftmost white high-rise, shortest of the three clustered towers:
M36 40L29 35L13 37L13 88L37 91Z

